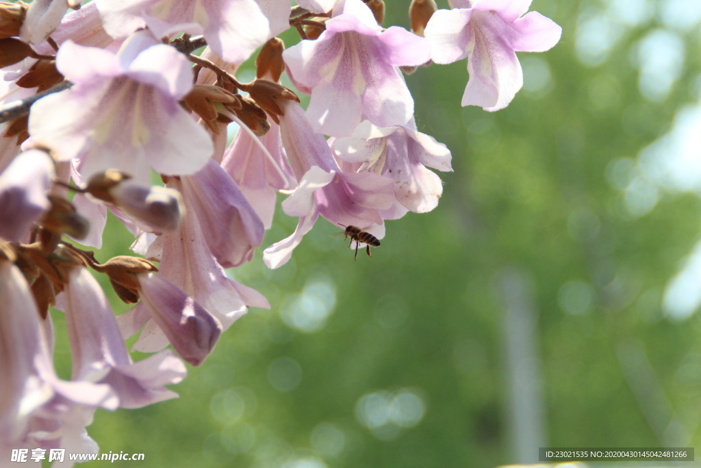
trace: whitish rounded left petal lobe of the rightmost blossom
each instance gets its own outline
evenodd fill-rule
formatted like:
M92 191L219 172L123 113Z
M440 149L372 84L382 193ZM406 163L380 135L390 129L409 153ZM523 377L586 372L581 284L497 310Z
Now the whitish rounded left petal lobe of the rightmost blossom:
M440 64L457 62L468 56L475 34L466 27L472 10L438 10L428 20L423 35L431 47L431 60Z

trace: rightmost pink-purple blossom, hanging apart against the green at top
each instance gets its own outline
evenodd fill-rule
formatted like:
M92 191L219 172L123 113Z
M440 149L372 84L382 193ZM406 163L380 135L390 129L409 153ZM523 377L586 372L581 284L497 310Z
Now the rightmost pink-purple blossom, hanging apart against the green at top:
M452 63L468 58L468 85L462 105L488 111L506 107L523 86L516 52L544 52L560 39L562 28L535 11L531 0L450 0L424 34L431 60Z

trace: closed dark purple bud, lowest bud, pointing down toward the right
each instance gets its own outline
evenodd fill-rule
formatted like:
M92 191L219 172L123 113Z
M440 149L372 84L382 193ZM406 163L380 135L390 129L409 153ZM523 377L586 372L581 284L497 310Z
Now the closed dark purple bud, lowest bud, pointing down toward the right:
M158 274L137 276L141 297L149 307L151 318L180 357L193 366L199 366L215 347L222 325L193 297Z

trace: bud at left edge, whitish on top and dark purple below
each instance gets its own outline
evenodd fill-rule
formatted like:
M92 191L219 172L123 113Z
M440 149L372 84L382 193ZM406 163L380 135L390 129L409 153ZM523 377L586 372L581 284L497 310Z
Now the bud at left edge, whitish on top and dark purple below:
M46 192L53 174L53 161L39 149L20 154L0 174L0 238L21 241L27 236L49 207Z

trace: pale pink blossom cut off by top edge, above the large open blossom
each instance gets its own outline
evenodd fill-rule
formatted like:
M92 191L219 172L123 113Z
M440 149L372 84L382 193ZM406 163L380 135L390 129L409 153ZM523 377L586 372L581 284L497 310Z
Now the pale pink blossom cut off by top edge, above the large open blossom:
M95 0L111 36L125 37L148 26L156 37L179 32L203 34L227 62L246 60L271 35L268 19L254 0ZM289 17L287 12L277 13Z

